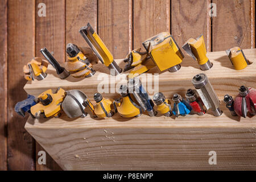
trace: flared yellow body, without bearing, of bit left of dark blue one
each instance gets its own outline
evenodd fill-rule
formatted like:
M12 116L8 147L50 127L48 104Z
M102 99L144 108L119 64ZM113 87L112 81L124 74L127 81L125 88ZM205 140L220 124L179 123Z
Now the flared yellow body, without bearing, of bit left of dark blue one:
M131 118L141 114L140 107L135 106L135 103L132 103L129 96L122 97L121 102L114 102L114 104L117 107L117 111L121 117Z

